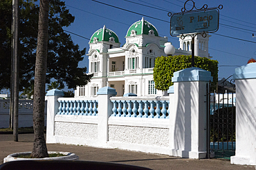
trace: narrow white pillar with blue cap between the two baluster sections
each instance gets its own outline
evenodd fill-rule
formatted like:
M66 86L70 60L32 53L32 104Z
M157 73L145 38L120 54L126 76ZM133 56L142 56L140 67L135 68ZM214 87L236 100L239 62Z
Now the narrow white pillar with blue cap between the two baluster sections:
M109 141L109 116L112 114L113 103L109 99L116 96L116 89L102 87L98 90L98 142L102 145Z

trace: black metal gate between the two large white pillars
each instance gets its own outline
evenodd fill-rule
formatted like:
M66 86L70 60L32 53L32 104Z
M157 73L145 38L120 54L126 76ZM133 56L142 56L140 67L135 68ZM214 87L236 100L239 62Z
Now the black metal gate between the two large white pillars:
M228 78L207 83L207 158L235 155L235 81Z

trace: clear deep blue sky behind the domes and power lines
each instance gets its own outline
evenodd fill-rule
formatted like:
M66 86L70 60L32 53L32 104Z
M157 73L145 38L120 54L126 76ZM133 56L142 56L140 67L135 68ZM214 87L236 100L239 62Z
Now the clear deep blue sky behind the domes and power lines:
M167 16L167 11L172 13L181 12L185 0L129 0L134 3L125 0L97 1L138 14L90 0L66 0L66 7L75 16L75 22L68 28L64 28L64 30L86 37L87 39L83 39L80 36L71 34L74 43L78 44L80 48L86 47L86 52L89 50L88 39L104 25L118 34L120 43L123 45L129 26L142 17L156 27L160 36L167 36L174 47L179 48L179 38L170 36L170 17ZM255 0L194 0L194 3L196 8L201 8L204 4L207 4L208 8L223 5L223 9L219 11L219 30L215 32L216 34L210 34L212 36L209 41L210 56L213 56L212 59L219 61L219 78L227 78L234 74L236 67L246 65L247 61L252 57L256 58L256 37L253 38L252 36L253 33L256 34ZM186 8L191 8L190 4L191 1ZM154 8L160 8L161 10ZM230 39L225 36L236 39ZM253 41L254 43L248 41ZM79 65L80 67L88 67L86 55L84 56L84 61L80 62Z

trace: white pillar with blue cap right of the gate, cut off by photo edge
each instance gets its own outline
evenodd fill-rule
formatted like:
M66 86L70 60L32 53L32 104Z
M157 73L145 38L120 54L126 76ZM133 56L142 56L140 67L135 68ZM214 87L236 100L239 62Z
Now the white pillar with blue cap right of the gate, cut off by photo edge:
M256 63L238 67L236 85L236 149L231 164L256 165Z

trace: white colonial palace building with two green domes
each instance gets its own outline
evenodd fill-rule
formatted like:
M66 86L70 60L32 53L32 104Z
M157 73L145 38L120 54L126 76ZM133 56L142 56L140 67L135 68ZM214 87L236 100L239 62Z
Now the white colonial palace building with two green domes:
M208 41L196 36L195 56L208 57ZM75 97L97 96L98 89L109 86L116 89L116 96L133 93L137 96L162 96L164 93L155 89L153 68L158 56L166 56L164 47L167 37L161 37L148 21L141 19L132 24L125 36L126 43L120 47L118 35L105 27L97 30L89 41L89 74L91 82L77 87ZM174 55L191 55L191 37L179 39L180 47Z

